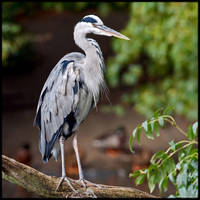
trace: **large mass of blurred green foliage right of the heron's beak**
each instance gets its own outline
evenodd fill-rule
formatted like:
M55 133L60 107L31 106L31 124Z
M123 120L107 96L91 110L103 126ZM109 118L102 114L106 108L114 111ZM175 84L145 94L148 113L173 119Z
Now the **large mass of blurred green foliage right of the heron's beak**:
M197 119L197 3L132 3L124 34L108 60L112 87L130 86L122 100L147 117L164 105Z

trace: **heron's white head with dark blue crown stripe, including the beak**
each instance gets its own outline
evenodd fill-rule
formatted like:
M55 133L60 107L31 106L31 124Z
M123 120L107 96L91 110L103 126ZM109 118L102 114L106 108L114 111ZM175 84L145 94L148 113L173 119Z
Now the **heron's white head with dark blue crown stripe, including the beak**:
M105 26L101 19L96 15L87 15L83 17L83 19L76 25L75 29L76 28L78 28L79 31L81 30L84 34L94 33L97 35L114 36L129 40L125 35Z

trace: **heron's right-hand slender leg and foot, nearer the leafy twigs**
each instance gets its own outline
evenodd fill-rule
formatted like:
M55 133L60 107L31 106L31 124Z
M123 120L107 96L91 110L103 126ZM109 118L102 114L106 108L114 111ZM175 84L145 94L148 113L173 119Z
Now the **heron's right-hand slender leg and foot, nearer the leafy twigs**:
M73 147L74 147L74 151L75 151L75 154L76 154L76 160L77 160L77 163L78 163L79 181L81 181L82 185L85 188L87 187L85 183L87 183L88 185L92 185L92 186L96 186L98 188L101 188L101 186L99 186L98 184L91 183L90 181L85 180L84 177L83 177L83 170L82 170L82 167L81 167L81 161L80 161L80 157L79 157L79 153L78 153L77 135L75 135L74 138L73 138Z

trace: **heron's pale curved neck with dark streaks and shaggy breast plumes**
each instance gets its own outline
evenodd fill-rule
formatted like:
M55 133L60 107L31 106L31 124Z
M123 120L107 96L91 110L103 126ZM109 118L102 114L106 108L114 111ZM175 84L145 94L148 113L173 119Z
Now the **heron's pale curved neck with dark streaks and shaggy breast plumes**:
M74 31L75 43L85 52L85 62L82 68L85 84L92 92L95 104L99 98L99 92L104 91L106 85L104 81L104 60L98 43L86 38L86 34L81 30Z

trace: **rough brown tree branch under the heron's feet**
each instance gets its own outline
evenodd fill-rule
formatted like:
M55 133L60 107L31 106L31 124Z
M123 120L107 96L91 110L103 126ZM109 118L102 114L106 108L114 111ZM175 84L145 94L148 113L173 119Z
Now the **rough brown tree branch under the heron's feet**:
M139 198L155 198L146 192L130 188L99 185L101 189L89 186L87 190L79 184L72 182L74 188L79 191L78 194L72 192L70 187L63 182L58 191L55 188L59 182L59 178L55 176L47 176L27 165L17 162L5 155L2 155L2 177L3 179L17 184L26 190L36 193L41 197L91 197L91 192L96 197L120 198L120 197L139 197ZM93 195L93 197L94 197Z

